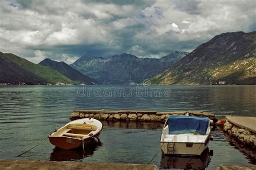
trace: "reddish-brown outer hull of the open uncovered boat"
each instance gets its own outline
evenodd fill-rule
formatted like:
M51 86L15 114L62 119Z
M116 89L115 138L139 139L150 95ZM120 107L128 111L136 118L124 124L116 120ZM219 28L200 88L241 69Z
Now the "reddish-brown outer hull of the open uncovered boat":
M95 138L98 138L99 134L100 133L93 135L91 138L84 139L84 145L89 145L92 142L95 142ZM82 139L52 136L52 137L49 137L49 140L52 145L55 145L56 147L59 147L62 149L73 149L73 148L83 146Z

